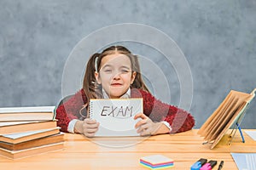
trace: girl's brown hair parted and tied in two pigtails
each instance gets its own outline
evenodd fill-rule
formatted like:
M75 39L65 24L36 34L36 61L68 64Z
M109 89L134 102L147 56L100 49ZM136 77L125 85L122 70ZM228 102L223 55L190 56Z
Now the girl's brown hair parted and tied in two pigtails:
M129 57L131 60L131 70L137 72L135 80L131 84L131 88L141 88L145 91L148 91L146 84L143 82L137 55L131 54L131 52L123 46L111 46L103 50L101 54L93 54L87 63L83 82L83 89L87 97L87 102L89 102L90 99L102 98L102 85L96 82L95 71L98 72L101 70L103 57L116 53L125 54L127 57Z

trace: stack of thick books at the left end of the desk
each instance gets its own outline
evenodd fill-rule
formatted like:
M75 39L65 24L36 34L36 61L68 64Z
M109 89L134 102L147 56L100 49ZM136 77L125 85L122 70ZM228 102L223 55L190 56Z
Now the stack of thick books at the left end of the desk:
M11 159L63 149L55 106L0 108L0 155Z

